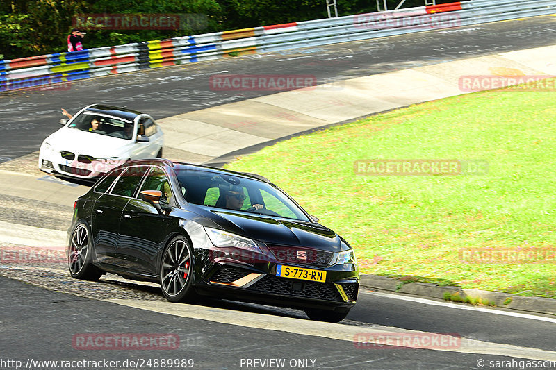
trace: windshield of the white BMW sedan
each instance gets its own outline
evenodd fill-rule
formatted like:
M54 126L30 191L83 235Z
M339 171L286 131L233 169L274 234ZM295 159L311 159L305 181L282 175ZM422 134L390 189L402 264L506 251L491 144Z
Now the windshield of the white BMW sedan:
M131 139L133 135L133 122L98 115L94 112L82 112L74 118L69 127L125 140Z

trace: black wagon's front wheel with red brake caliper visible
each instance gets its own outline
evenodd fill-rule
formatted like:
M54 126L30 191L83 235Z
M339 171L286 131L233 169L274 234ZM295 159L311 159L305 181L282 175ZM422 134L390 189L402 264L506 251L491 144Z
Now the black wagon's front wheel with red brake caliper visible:
M170 302L191 302L197 298L193 287L193 249L188 240L174 237L162 253L160 283Z

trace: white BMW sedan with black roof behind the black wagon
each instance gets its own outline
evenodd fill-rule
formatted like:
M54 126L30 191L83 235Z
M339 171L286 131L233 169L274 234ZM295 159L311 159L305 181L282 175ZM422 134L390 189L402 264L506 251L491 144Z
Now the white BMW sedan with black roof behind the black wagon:
M164 136L151 116L93 104L44 139L39 169L95 180L127 160L161 158Z

